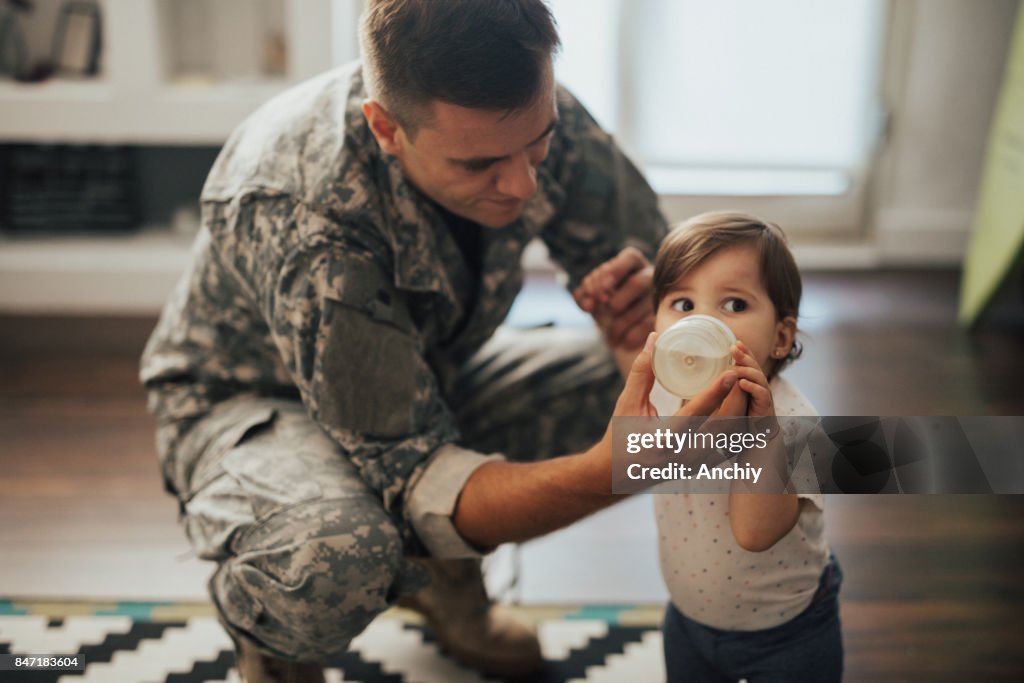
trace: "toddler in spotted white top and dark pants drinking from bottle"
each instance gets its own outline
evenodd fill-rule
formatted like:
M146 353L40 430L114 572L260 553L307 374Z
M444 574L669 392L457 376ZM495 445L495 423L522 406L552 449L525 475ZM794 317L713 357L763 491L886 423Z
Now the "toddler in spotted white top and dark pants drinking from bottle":
M596 283L585 284L600 296ZM730 212L691 218L662 243L653 294L658 334L695 313L735 334L730 371L738 381L723 414L816 415L779 375L800 355L801 282L777 225ZM659 415L680 408L656 382L650 402ZM825 542L820 494L726 488L653 499L671 597L663 627L669 681L841 680L842 572Z

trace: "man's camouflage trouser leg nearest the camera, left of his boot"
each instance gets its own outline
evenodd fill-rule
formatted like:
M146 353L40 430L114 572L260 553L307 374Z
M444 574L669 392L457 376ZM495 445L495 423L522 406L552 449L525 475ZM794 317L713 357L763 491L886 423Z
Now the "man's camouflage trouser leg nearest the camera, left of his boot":
M250 429L226 451L204 438L240 420ZM207 447L183 497L185 529L201 558L219 562L210 595L232 636L278 657L322 660L398 592L425 585L380 500L299 401L229 399L182 447L197 438Z

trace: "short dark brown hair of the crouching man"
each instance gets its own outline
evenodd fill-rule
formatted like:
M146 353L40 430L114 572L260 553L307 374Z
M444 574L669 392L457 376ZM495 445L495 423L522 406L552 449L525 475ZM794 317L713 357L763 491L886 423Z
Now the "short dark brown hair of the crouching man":
M434 100L528 106L559 45L543 0L369 0L359 39L370 96L411 135Z

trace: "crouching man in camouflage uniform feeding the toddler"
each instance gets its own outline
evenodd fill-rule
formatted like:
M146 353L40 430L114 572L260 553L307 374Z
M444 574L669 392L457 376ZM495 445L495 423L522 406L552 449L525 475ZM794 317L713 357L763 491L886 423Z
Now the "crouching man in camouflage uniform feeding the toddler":
M142 358L163 475L247 679L322 680L399 598L464 661L521 674L536 636L487 606L478 560L436 560L607 505L573 494L583 461L543 459L601 438L622 381L597 335L500 329L520 256L540 238L573 289L606 264L610 299L581 304L635 352L665 221L555 87L540 0L371 2L362 47L210 172Z

